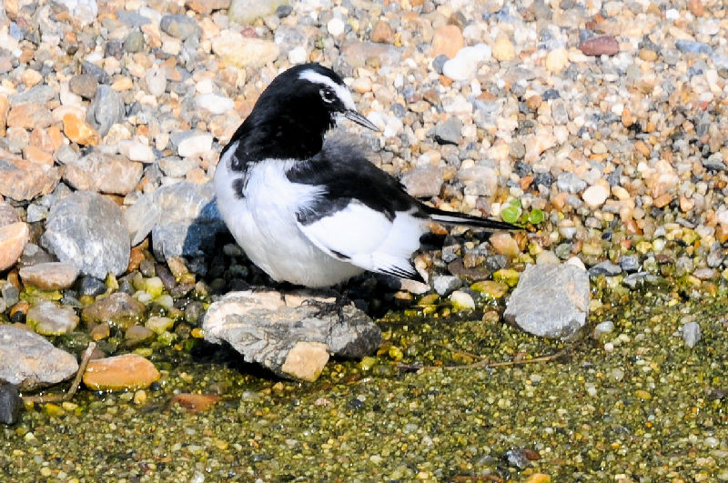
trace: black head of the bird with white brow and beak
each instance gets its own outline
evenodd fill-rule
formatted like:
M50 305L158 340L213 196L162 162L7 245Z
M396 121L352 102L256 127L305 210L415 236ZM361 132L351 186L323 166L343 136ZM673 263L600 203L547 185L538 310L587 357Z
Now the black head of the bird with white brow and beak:
M246 162L306 159L320 151L324 135L339 116L378 130L357 112L349 88L334 71L316 63L296 65L273 79L258 97L223 153L238 142L237 157Z

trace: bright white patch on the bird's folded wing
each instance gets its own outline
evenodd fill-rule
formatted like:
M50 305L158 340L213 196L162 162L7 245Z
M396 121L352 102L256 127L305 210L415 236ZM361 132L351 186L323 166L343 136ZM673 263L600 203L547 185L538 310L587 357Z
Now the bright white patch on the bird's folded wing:
M392 221L358 202L310 225L301 232L331 257L372 272L417 278L412 252L420 247L425 227L422 220L399 212Z

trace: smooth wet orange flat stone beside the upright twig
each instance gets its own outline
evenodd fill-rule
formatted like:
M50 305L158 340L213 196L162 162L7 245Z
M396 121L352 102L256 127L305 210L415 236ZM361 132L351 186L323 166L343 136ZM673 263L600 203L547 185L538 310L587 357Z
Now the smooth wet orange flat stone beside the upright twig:
M159 380L157 367L136 354L105 357L88 362L84 384L95 391L146 389Z

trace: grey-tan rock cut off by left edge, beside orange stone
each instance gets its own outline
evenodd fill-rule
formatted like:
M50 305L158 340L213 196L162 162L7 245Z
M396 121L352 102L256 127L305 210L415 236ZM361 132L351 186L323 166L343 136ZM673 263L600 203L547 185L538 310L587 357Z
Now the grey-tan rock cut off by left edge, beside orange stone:
M23 328L0 325L0 379L31 390L73 377L76 357Z

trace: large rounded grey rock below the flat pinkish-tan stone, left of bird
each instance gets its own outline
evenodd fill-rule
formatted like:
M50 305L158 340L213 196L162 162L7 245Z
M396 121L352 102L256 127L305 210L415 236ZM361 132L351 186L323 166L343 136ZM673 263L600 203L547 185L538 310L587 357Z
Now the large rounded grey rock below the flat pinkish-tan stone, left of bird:
M105 196L78 191L58 202L41 244L85 275L121 275L129 264L129 232L121 208Z

